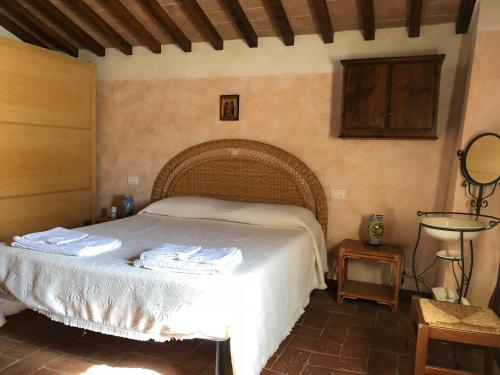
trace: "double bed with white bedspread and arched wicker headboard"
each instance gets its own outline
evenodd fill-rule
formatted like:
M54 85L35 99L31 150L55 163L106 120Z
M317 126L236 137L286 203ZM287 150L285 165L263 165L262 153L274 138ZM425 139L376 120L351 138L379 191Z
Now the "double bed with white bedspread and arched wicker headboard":
M138 215L81 228L123 246L89 258L0 248L3 296L64 324L137 340L230 339L235 374L257 374L325 288L327 208L318 179L260 142L193 146L160 171ZM162 242L238 246L229 274L131 266Z

